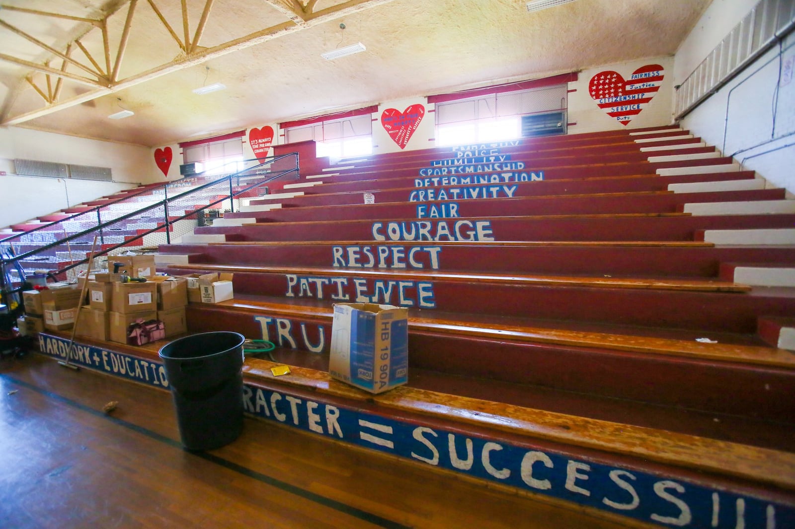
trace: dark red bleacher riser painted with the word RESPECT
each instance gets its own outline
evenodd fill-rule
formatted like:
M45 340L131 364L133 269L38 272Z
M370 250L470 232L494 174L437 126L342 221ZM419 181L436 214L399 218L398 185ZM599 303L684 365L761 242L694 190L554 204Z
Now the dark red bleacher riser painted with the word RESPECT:
M394 264L391 248L395 243L364 241L359 244L301 245L175 245L169 250L195 256L191 262L207 264L246 264L251 266L302 266L351 267L378 270ZM398 244L399 246L399 244ZM373 255L373 264L364 249ZM390 248L390 253L379 253L379 248ZM795 248L715 248L682 246L620 246L580 245L518 246L495 244L445 245L425 242L422 245L405 245L397 262L405 264L407 271L430 272L440 269L448 272L483 272L523 274L572 274L611 276L681 276L708 279L718 276L721 264L738 259L751 259L770 265L795 262ZM417 248L418 250L413 250ZM437 253L421 249L436 249ZM436 250L433 250L436 252ZM409 253L411 261L409 262ZM417 263L421 268L410 264ZM434 268L436 266L436 268ZM724 280L731 278L724 277Z

